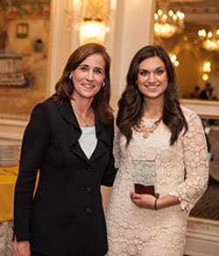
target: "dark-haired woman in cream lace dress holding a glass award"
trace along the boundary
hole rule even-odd
[[[208,183],[208,152],[200,118],[180,106],[164,48],[147,46],[133,57],[118,106],[107,255],[183,255],[187,216]],[[150,164],[141,175],[156,176],[159,199],[135,193],[134,163]]]

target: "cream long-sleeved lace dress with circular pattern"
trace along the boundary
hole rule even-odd
[[[186,107],[181,108],[188,130],[186,135],[180,134],[173,146],[169,145],[170,131],[163,122],[147,139],[134,131],[127,150],[124,135],[117,131],[115,157],[119,171],[106,216],[106,255],[183,255],[187,216],[208,183],[208,152],[200,118]],[[155,121],[144,120],[149,127]],[[159,196],[177,196],[180,204],[159,210],[138,208],[130,198],[133,159],[154,160]]]

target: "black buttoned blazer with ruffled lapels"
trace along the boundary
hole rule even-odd
[[[88,159],[69,99],[47,100],[32,111],[21,150],[15,189],[14,229],[18,241],[47,255],[100,256],[107,252],[100,185],[111,186],[113,124],[95,119],[97,145]],[[36,175],[39,186],[32,199]]]

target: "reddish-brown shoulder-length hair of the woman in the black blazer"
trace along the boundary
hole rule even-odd
[[[110,99],[110,77],[109,69],[111,58],[108,55],[106,48],[97,43],[84,44],[77,48],[72,55],[69,56],[65,69],[63,70],[60,80],[55,84],[55,93],[49,98],[54,101],[60,101],[72,98],[72,93],[74,91],[74,84],[69,75],[72,70],[77,69],[77,67],[83,62],[89,55],[100,54],[105,61],[105,86],[101,88],[100,91],[95,95],[92,102],[92,106],[95,108],[95,114],[103,122],[104,125],[109,126],[113,120],[112,108],[109,106]]]

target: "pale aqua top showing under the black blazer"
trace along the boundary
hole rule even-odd
[[[95,136],[95,126],[94,127],[81,127],[81,137],[78,142],[81,146],[81,149],[84,151],[85,155],[91,157],[92,153],[95,150],[97,139]]]

